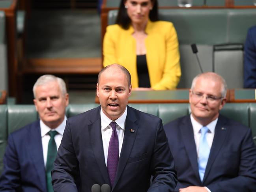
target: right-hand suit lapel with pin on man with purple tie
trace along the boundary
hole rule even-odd
[[[136,124],[137,118],[133,110],[127,106],[127,117],[125,121],[125,133],[123,138],[123,145],[120,153],[120,158],[118,161],[118,168],[116,171],[116,179],[114,182],[115,187],[116,183],[118,182],[125,165],[127,164],[127,160],[130,157],[131,150],[133,149],[133,143],[135,142],[136,134],[138,132],[138,125]],[[131,129],[134,129],[135,132],[131,133]]]

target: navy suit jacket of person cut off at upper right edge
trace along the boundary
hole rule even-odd
[[[248,30],[245,41],[244,88],[256,88],[256,26]]]

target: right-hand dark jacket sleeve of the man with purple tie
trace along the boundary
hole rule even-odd
[[[151,160],[151,175],[153,175],[153,179],[148,192],[174,191],[177,185],[174,159],[161,120],[157,125],[155,135],[155,147]]]

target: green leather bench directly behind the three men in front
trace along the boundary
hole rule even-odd
[[[70,104],[67,117],[97,107],[98,104]],[[129,104],[140,111],[153,114],[166,124],[178,117],[190,113],[189,104]],[[227,103],[221,114],[230,117],[252,128],[256,142],[256,103]],[[0,105],[0,173],[3,168],[3,156],[7,145],[8,134],[38,119],[34,105]]]

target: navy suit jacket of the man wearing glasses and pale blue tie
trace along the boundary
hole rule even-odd
[[[207,186],[211,192],[256,191],[256,147],[249,128],[219,116],[202,182],[190,116],[166,124],[164,130],[177,171],[176,190]]]

